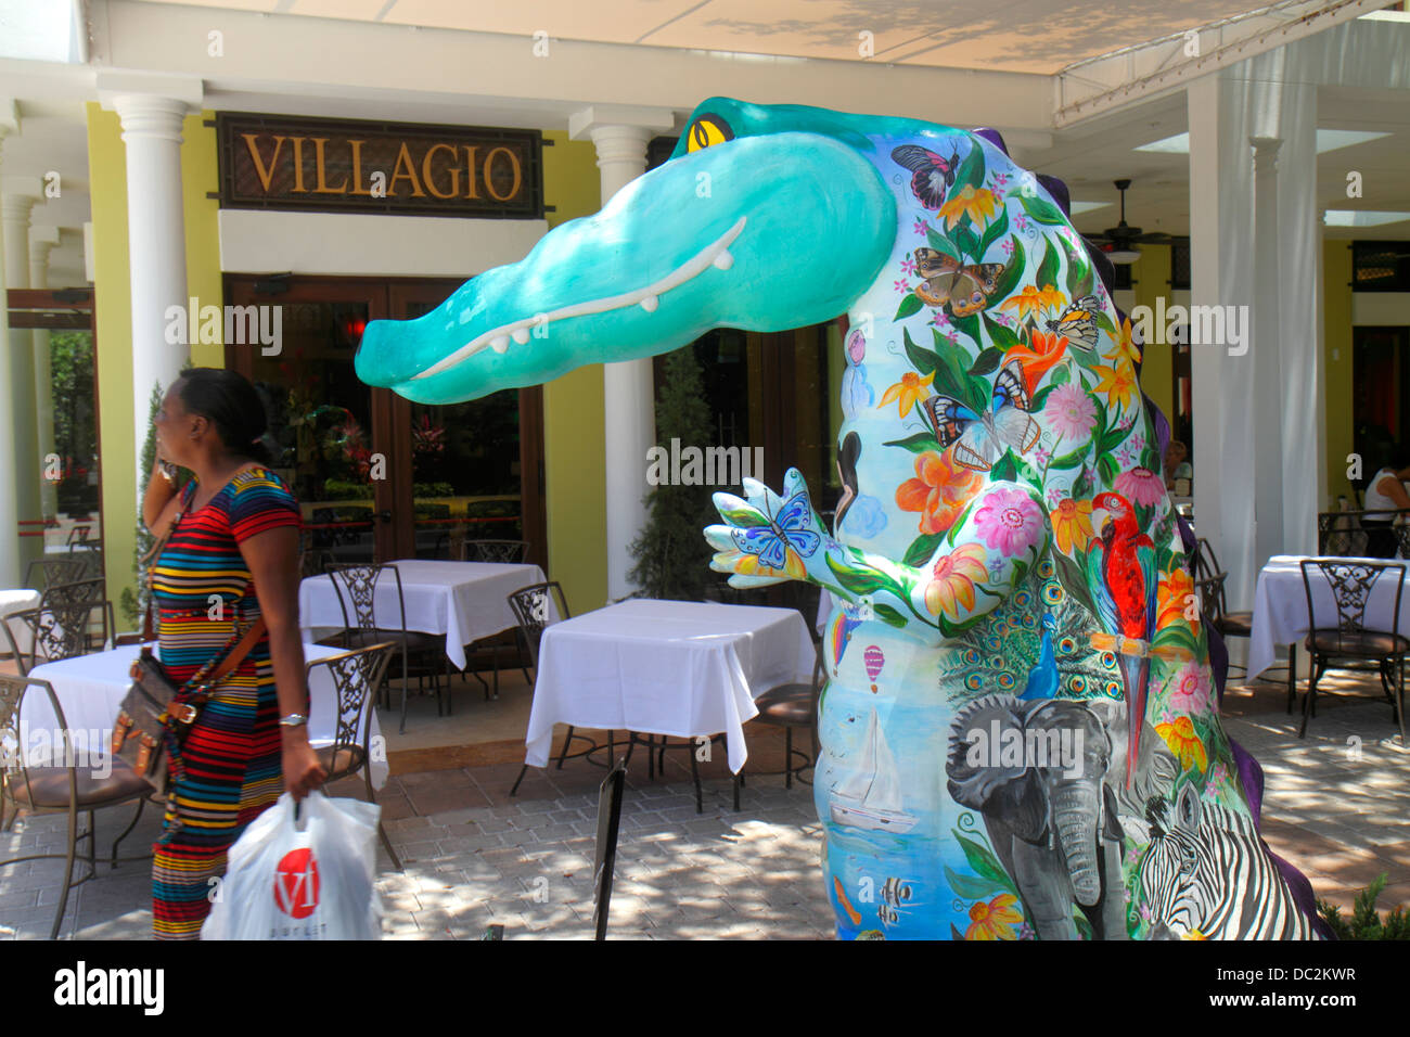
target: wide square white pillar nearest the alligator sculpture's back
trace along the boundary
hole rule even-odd
[[[1187,87],[1190,301],[1249,306],[1253,298],[1252,161],[1246,83],[1214,73]],[[1246,312],[1246,310],[1244,310]],[[1220,556],[1230,607],[1249,608],[1253,545],[1253,351],[1190,346],[1194,523]]]

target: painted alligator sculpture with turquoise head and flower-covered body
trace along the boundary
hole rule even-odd
[[[447,404],[846,313],[835,528],[791,470],[716,494],[706,530],[732,584],[833,600],[839,935],[1311,937],[1220,725],[1227,656],[1103,267],[997,134],[716,97],[596,216],[371,323],[357,372]]]

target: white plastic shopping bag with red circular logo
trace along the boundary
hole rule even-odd
[[[381,940],[376,823],[382,808],[285,793],[230,848],[202,940]]]

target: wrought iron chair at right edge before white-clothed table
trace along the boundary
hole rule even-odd
[[[1317,712],[1317,681],[1334,659],[1371,659],[1379,665],[1380,686],[1390,700],[1390,708],[1400,728],[1400,745],[1406,744],[1404,722],[1404,659],[1410,653],[1410,639],[1400,631],[1400,598],[1404,591],[1406,567],[1394,563],[1338,562],[1306,559],[1301,563],[1303,590],[1307,593],[1308,633],[1306,646],[1311,653],[1311,677],[1303,698],[1303,722],[1299,738],[1307,736],[1307,721]],[[1313,574],[1331,591],[1337,608],[1335,625],[1325,605],[1318,610],[1313,595]],[[1394,580],[1394,607],[1389,631],[1366,626],[1366,605],[1371,593],[1382,578]],[[1332,693],[1323,693],[1332,694]]]

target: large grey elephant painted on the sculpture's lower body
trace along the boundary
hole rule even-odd
[[[990,841],[1042,940],[1076,940],[1073,904],[1097,938],[1127,938],[1118,794],[1169,790],[1176,768],[1155,738],[1141,787],[1127,790],[1122,704],[990,696],[950,728],[949,792],[984,815]],[[1165,789],[1159,789],[1159,784]],[[1108,878],[1110,876],[1110,878]]]

